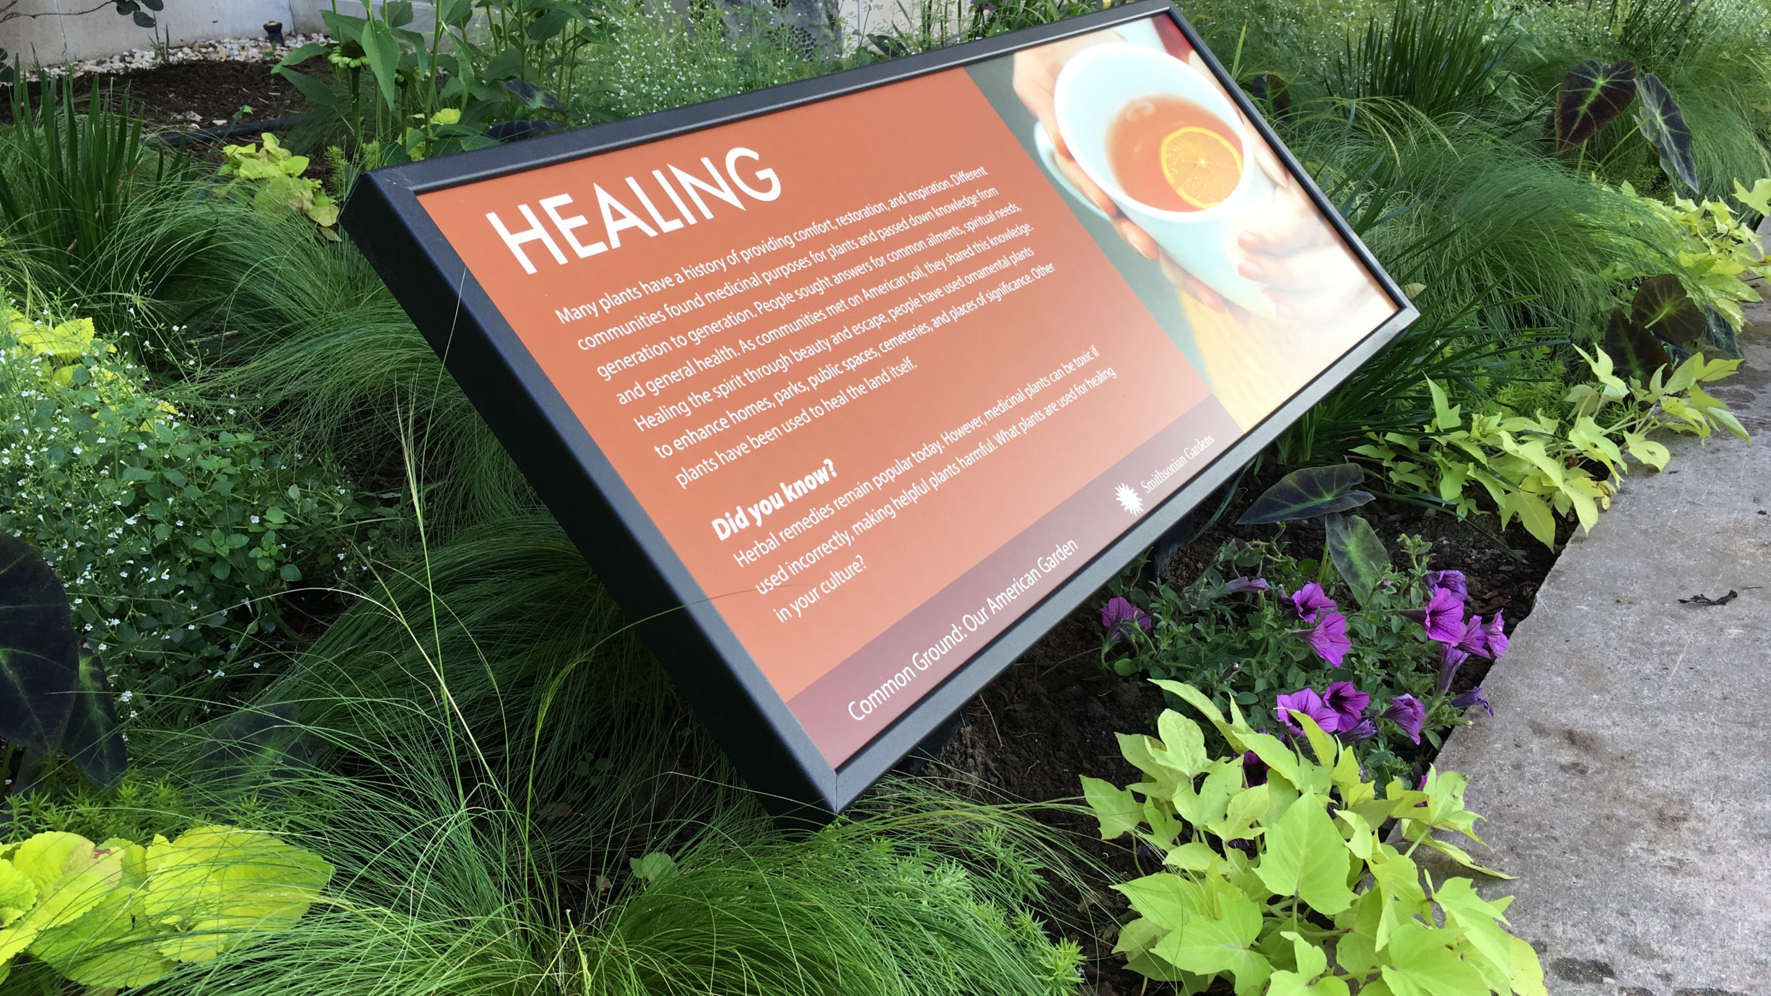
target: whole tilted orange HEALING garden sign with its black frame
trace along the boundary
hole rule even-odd
[[[845,806],[1415,312],[1165,2],[370,174],[719,735]]]

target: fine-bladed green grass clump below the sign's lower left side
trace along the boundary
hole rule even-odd
[[[1015,806],[887,785],[777,831],[549,517],[388,569],[255,700],[324,744],[253,739],[260,819],[336,867],[333,902],[159,992],[280,996],[1063,996],[1038,914],[1059,836]],[[142,778],[214,806],[205,735],[140,728]],[[310,753],[310,757],[313,757]],[[280,773],[276,773],[276,771]],[[273,794],[275,792],[275,794]],[[326,805],[303,799],[319,799]],[[143,808],[156,805],[142,799]]]

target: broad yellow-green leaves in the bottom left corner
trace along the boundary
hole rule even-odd
[[[145,985],[287,929],[331,874],[301,847],[228,826],[145,847],[39,833],[0,847],[0,980],[28,955],[81,985]]]

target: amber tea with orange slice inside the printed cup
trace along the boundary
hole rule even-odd
[[[1128,103],[1107,126],[1107,161],[1133,200],[1160,211],[1222,204],[1241,181],[1241,144],[1222,119],[1172,94]]]

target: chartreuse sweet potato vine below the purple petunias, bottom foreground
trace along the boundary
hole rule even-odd
[[[1130,833],[1164,858],[1165,870],[1114,886],[1135,914],[1114,948],[1128,968],[1187,992],[1222,980],[1240,996],[1544,992],[1535,952],[1505,930],[1511,900],[1482,899],[1465,877],[1435,888],[1411,858],[1431,847],[1479,868],[1442,838],[1475,840],[1463,776],[1429,771],[1420,789],[1396,780],[1380,796],[1307,716],[1305,748],[1254,730],[1234,702],[1226,716],[1192,686],[1156,684],[1233,753],[1208,757],[1199,725],[1169,711],[1162,737],[1119,737],[1142,782],[1084,778],[1102,838]],[[1268,764],[1264,783],[1249,783],[1243,751]],[[1406,849],[1376,833],[1390,821]]]

